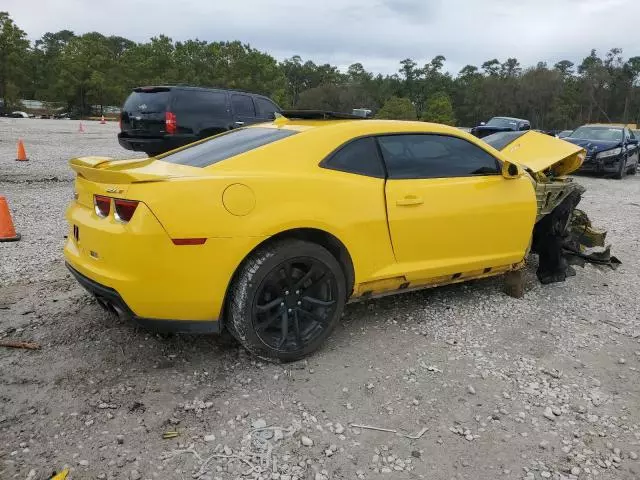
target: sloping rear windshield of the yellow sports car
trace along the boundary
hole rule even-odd
[[[192,167],[208,167],[227,158],[290,137],[298,132],[279,128],[253,127],[232,130],[210,140],[160,156],[164,162]]]

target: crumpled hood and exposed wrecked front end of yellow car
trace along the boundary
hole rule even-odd
[[[520,163],[534,184],[538,215],[531,251],[539,256],[536,274],[541,283],[575,275],[572,265],[620,265],[605,243],[607,232],[593,227],[576,208],[585,188],[566,176],[580,168],[584,149],[531,131],[500,132],[483,140]]]

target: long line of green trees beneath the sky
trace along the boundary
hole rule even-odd
[[[87,114],[91,105],[121,105],[133,87],[189,84],[247,90],[286,108],[351,111],[381,118],[422,119],[472,126],[494,115],[531,120],[536,128],[588,122],[640,123],[640,56],[596,50],[579,64],[562,60],[524,67],[516,58],[444,71],[435,56],[425,65],[407,58],[393,75],[360,63],[346,72],[300,56],[278,61],[240,41],[173,41],[159,35],[137,43],[97,32],[46,33],[35,42],[0,12],[0,98],[62,102]]]

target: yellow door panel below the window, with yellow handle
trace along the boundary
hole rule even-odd
[[[411,282],[521,261],[536,216],[525,177],[388,180],[386,198],[396,273]]]

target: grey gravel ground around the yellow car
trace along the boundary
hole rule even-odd
[[[273,365],[139,330],[69,277],[66,161],[128,154],[116,125],[77,123],[0,120],[23,235],[0,243],[0,339],[42,345],[0,348],[0,478],[640,478],[640,176],[577,177],[617,271],[542,286],[532,258],[523,299],[489,279],[350,305],[321,351]]]

